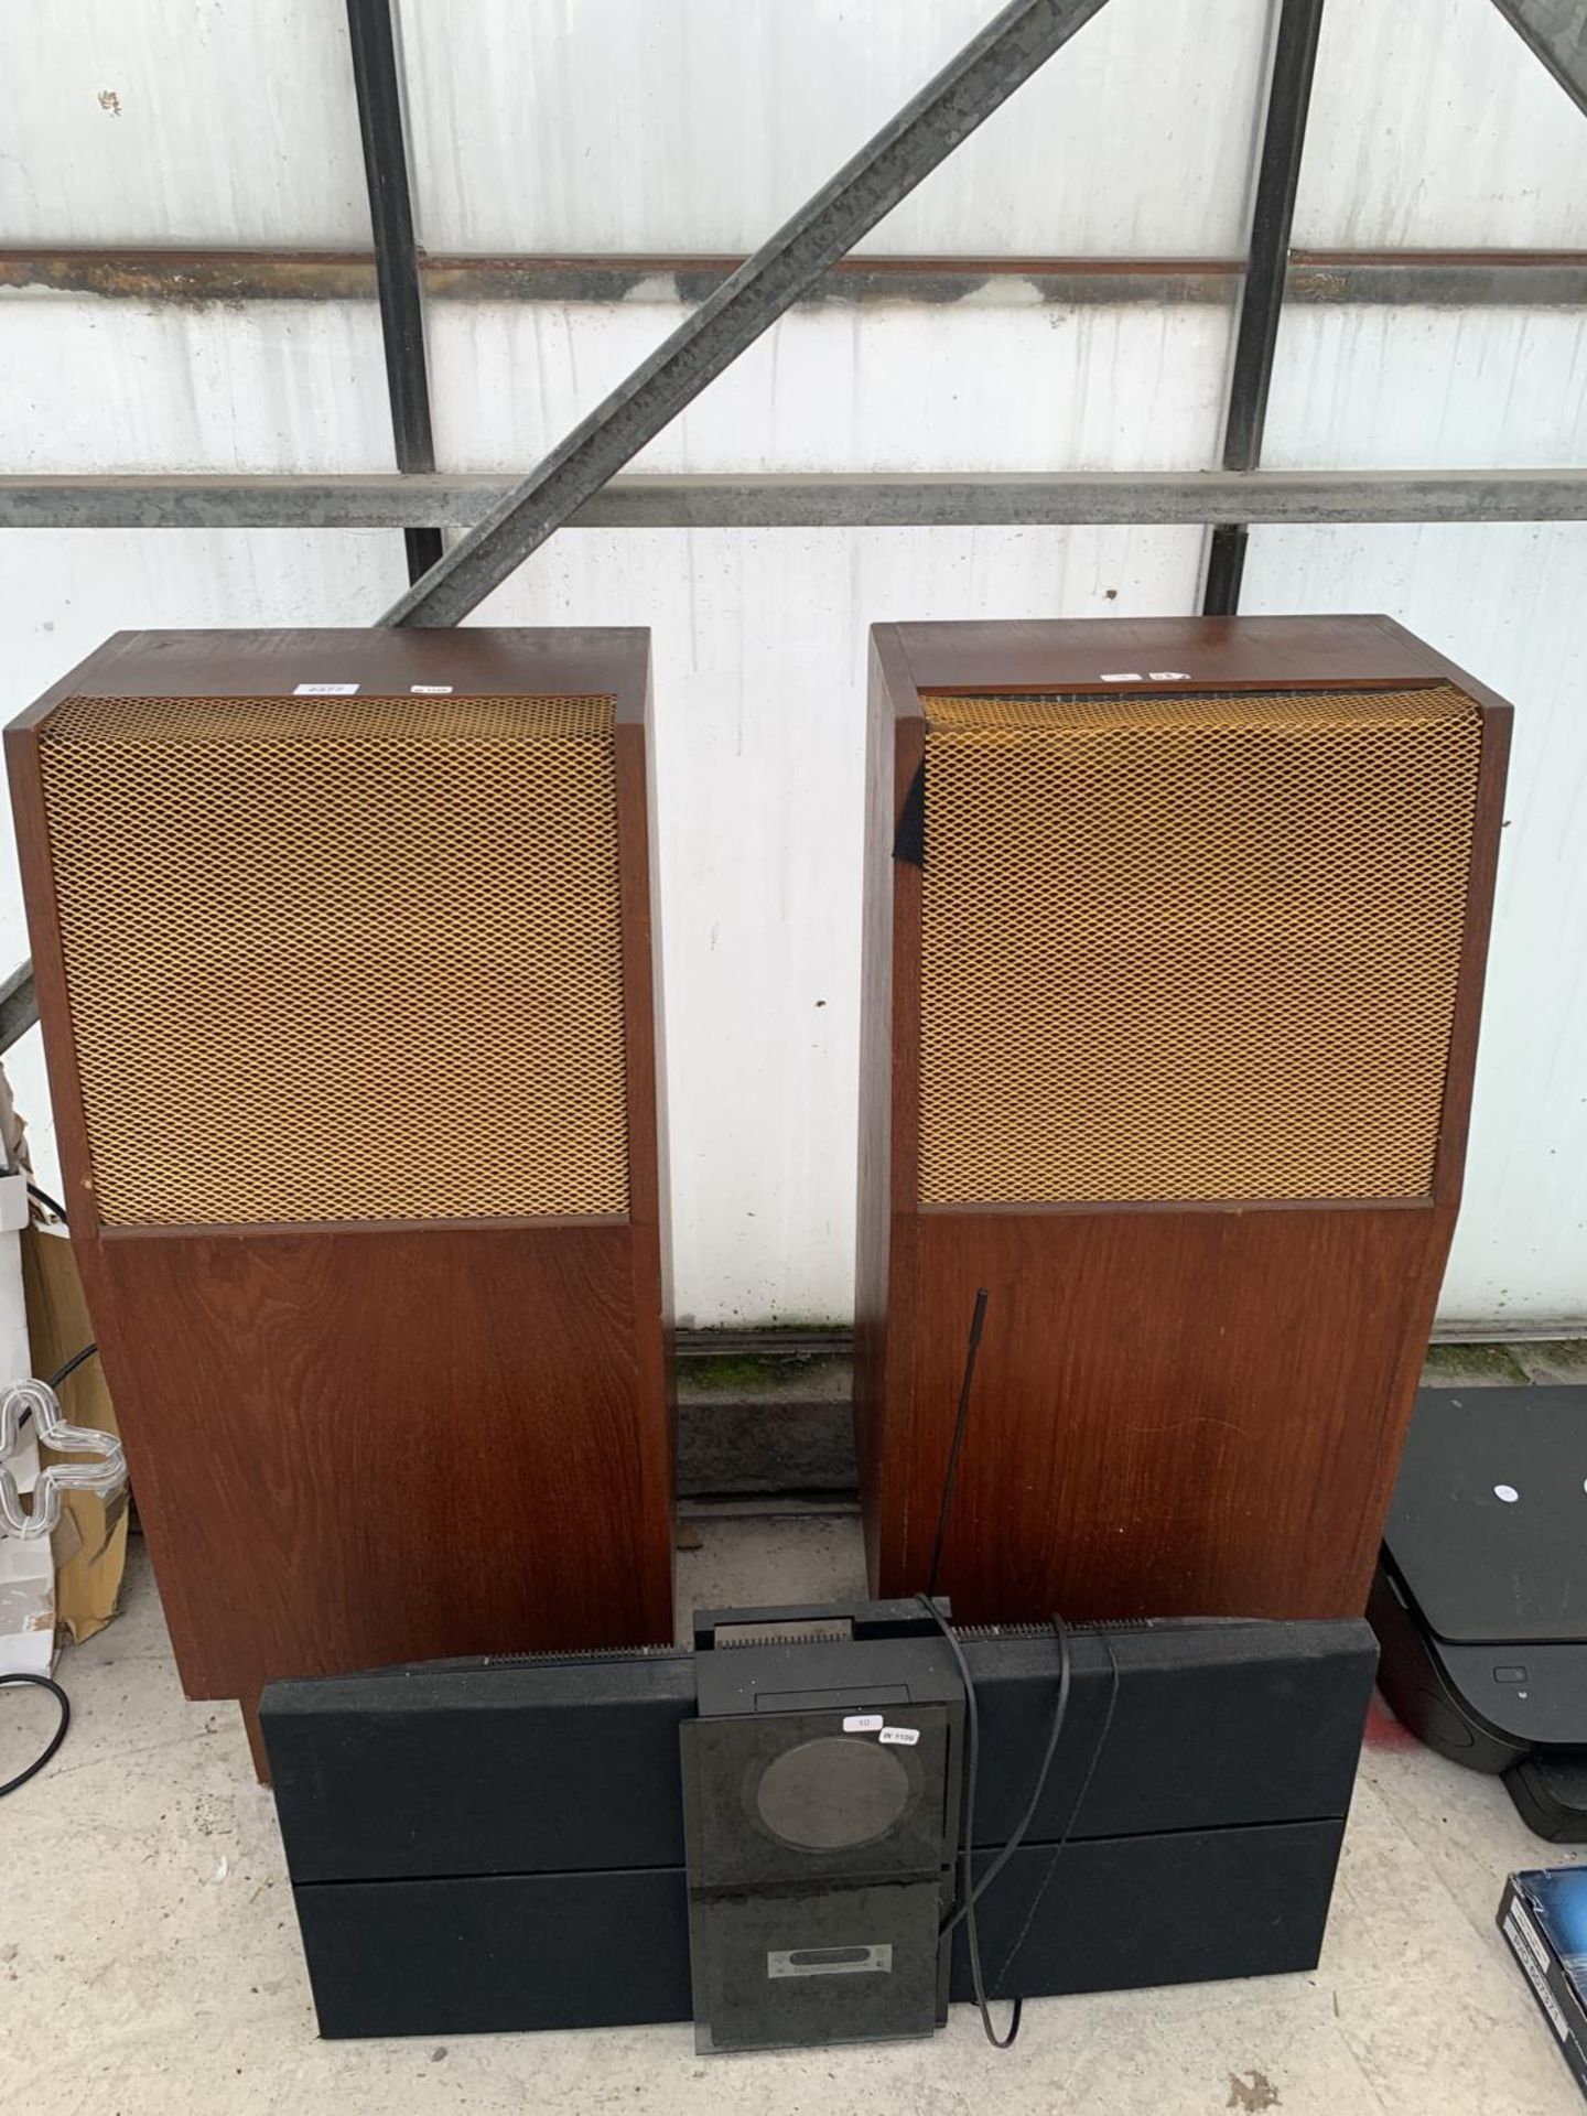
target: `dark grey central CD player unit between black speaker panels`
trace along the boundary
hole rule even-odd
[[[882,1636],[849,1619],[794,1638],[707,1619],[679,1725],[703,2050],[948,2019],[965,1691],[923,1617],[904,1604]]]

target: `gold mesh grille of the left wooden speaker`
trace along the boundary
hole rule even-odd
[[[624,1212],[612,698],[70,698],[106,1223]]]

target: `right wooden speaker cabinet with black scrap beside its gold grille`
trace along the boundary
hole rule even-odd
[[[1509,707],[1386,618],[872,635],[857,1439],[961,1619],[1346,1617],[1460,1198]]]

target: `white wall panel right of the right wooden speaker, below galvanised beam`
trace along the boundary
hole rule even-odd
[[[1585,580],[1583,523],[1251,533],[1244,609],[1384,609],[1515,703],[1445,1322],[1587,1327]]]

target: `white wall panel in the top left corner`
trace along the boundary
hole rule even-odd
[[[0,241],[366,250],[343,0],[13,0]]]

